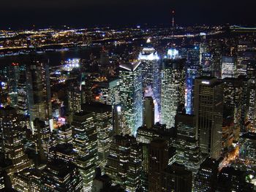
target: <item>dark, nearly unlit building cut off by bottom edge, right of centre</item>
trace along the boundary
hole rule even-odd
[[[192,191],[192,172],[179,164],[172,164],[162,172],[162,191]]]

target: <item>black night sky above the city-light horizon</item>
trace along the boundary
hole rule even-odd
[[[170,23],[255,24],[256,0],[0,0],[0,28]]]

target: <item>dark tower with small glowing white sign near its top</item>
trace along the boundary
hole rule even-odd
[[[203,153],[219,158],[223,123],[223,85],[215,77],[195,79],[197,137]]]

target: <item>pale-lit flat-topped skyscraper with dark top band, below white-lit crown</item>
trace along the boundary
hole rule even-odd
[[[185,60],[165,59],[162,69],[161,123],[167,128],[175,125],[180,104],[185,103]]]

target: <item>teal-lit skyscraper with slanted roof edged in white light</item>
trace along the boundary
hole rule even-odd
[[[127,125],[136,135],[143,124],[143,82],[140,62],[121,64],[119,70],[121,106]]]

